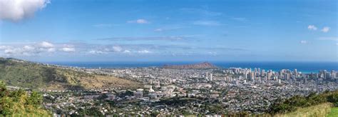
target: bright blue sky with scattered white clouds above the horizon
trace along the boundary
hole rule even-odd
[[[337,61],[337,6],[335,0],[5,0],[0,2],[0,56],[30,61]]]

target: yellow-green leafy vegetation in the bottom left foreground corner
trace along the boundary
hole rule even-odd
[[[9,91],[0,81],[0,116],[50,116],[51,113],[41,108],[42,96],[24,90]]]

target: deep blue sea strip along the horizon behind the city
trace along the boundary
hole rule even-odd
[[[150,67],[150,66],[163,66],[165,64],[169,65],[183,65],[190,63],[200,63],[200,62],[191,62],[191,61],[175,61],[175,62],[47,62],[61,66],[74,66],[81,68],[133,68],[133,67]],[[225,61],[211,61],[210,63],[221,68],[261,68],[272,71],[280,71],[282,69],[290,69],[301,71],[303,73],[317,73],[319,70],[327,71],[338,71],[338,62],[249,62],[249,61],[236,61],[236,62],[225,62]]]

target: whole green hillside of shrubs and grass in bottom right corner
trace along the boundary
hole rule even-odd
[[[276,101],[270,107],[274,116],[338,116],[338,90],[310,93],[308,96],[293,96]]]

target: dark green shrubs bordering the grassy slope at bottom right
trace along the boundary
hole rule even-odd
[[[310,93],[309,96],[293,96],[285,101],[278,100],[272,104],[269,113],[287,113],[296,111],[297,108],[315,106],[321,103],[333,103],[334,106],[338,106],[338,90],[325,91],[320,94]]]

